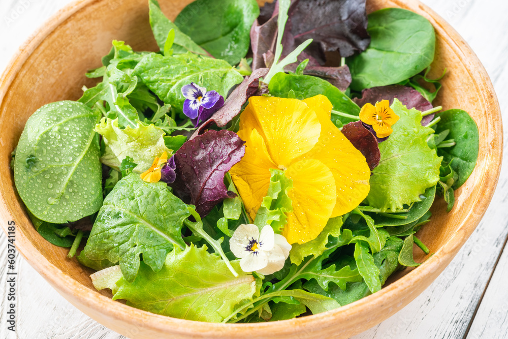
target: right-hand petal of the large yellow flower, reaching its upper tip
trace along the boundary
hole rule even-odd
[[[326,97],[304,100],[309,106],[331,111]],[[318,109],[319,108],[319,109]],[[321,123],[319,142],[300,159],[316,159],[332,172],[337,190],[332,218],[352,211],[369,194],[370,169],[362,153],[330,121],[330,115],[318,114]]]

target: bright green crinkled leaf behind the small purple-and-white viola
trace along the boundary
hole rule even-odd
[[[226,98],[231,87],[243,80],[226,61],[190,53],[174,56],[152,53],[140,61],[134,73],[153,93],[180,113],[185,101],[181,91],[184,85],[195,82]]]

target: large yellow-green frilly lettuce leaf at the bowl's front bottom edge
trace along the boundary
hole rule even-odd
[[[164,265],[154,272],[141,263],[136,279],[121,278],[113,299],[125,299],[137,309],[187,320],[220,322],[235,305],[252,300],[256,279],[242,272],[238,261],[232,265],[241,272],[231,274],[220,257],[194,245],[168,254]]]

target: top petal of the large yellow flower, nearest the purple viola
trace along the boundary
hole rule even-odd
[[[255,128],[266,142],[277,167],[285,169],[319,139],[316,113],[296,99],[251,97],[240,117],[240,129]]]

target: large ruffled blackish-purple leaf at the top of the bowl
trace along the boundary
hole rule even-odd
[[[288,54],[307,39],[319,48],[306,50],[320,60],[324,52],[339,51],[342,57],[364,51],[370,44],[365,0],[296,0],[289,10],[286,30],[294,47],[284,44]]]

